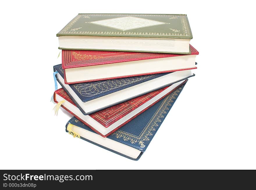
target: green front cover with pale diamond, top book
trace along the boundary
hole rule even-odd
[[[192,39],[186,14],[78,14],[56,36]]]

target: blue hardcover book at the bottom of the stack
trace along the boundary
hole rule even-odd
[[[185,84],[183,83],[173,93],[106,138],[95,133],[75,117],[67,122],[66,131],[74,137],[91,142],[116,154],[138,160],[147,149]]]

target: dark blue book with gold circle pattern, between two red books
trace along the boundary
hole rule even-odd
[[[191,70],[117,78],[78,84],[65,84],[62,65],[55,65],[56,79],[84,115],[153,92],[194,74]]]

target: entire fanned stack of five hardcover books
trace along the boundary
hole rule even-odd
[[[66,131],[132,160],[147,149],[195,76],[198,51],[185,14],[78,14],[57,34]],[[57,83],[56,83],[57,88]]]

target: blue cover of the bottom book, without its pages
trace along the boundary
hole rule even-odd
[[[171,107],[173,106],[174,102],[176,101],[177,97],[179,96],[180,92],[184,88],[184,85],[181,85],[178,89],[173,91],[171,94],[160,100],[158,103],[147,109],[145,112],[138,115],[136,118],[131,120],[129,123],[125,124],[123,127],[112,133],[106,138],[114,140],[116,142],[128,145],[135,149],[141,151],[141,154],[138,158],[131,158],[127,157],[126,155],[120,154],[116,151],[113,151],[109,148],[106,148],[102,145],[99,145],[95,142],[92,142],[86,138],[80,137],[83,140],[91,142],[99,147],[108,149],[112,152],[120,154],[121,156],[125,156],[132,160],[138,160],[143,152],[147,149],[148,145],[150,144],[152,138],[156,134],[157,130],[159,129],[160,125],[163,123],[163,120],[167,116],[168,112],[170,111]],[[87,131],[95,133],[90,127],[84,125],[80,122],[77,118],[71,118],[66,125],[66,131],[69,124],[78,126],[83,128]]]

